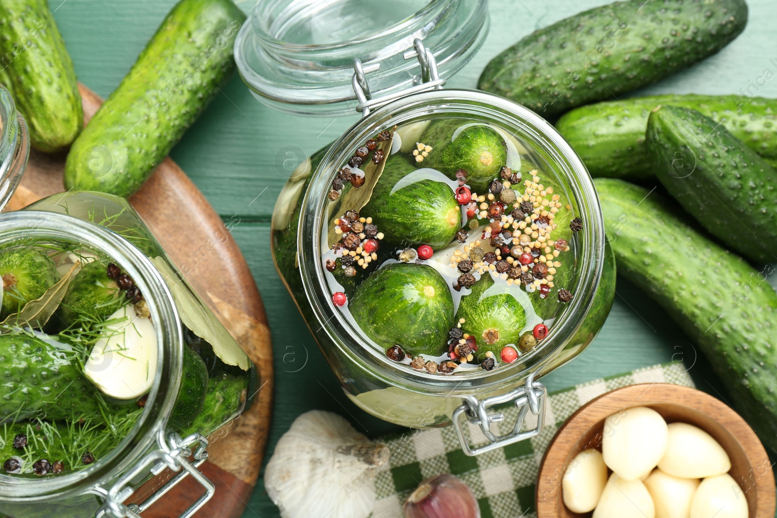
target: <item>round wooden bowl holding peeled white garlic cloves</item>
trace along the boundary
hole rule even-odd
[[[761,441],[728,405],[695,388],[673,384],[638,384],[594,398],[575,412],[553,437],[542,458],[537,480],[538,518],[583,518],[566,509],[561,495],[564,470],[580,451],[601,450],[605,419],[625,408],[646,406],[667,422],[688,422],[709,433],[731,459],[730,475],[739,482],[750,518],[775,516],[775,478]]]

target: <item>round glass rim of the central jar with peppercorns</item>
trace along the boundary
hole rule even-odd
[[[430,113],[430,106],[438,109]],[[454,110],[498,116],[507,121],[507,127],[521,127],[531,137],[545,145],[570,180],[575,202],[585,216],[586,224],[577,232],[580,238],[580,256],[577,264],[581,267],[577,273],[577,293],[572,301],[566,303],[556,316],[549,335],[542,340],[542,346],[530,353],[524,353],[518,361],[490,371],[472,370],[472,372],[441,376],[421,370],[400,369],[374,346],[364,345],[357,337],[361,330],[354,329],[350,322],[336,309],[329,294],[324,275],[324,266],[320,260],[322,247],[320,229],[326,220],[326,203],[329,202],[329,183],[339,169],[338,164],[347,161],[353,154],[354,144],[364,141],[374,134],[375,128],[391,127],[402,120],[412,120],[421,116],[434,116],[452,113]],[[329,172],[329,174],[326,174]],[[588,175],[583,162],[564,138],[536,113],[509,99],[486,92],[473,90],[444,89],[424,92],[399,99],[382,106],[375,112],[358,121],[333,143],[313,172],[313,179],[301,202],[300,231],[298,233],[298,254],[300,273],[305,294],[308,297],[315,317],[322,331],[332,342],[340,347],[354,361],[369,363],[375,367],[374,374],[385,377],[389,383],[401,380],[404,386],[413,385],[419,390],[438,388],[440,391],[471,391],[473,387],[497,384],[505,379],[523,379],[533,372],[542,370],[573,338],[577,329],[591,309],[601,278],[605,257],[605,228],[598,197],[593,180]],[[531,363],[531,362],[534,363]],[[451,388],[455,385],[455,388]]]

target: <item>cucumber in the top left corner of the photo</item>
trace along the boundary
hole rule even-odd
[[[30,129],[30,144],[58,151],[75,140],[84,112],[73,62],[46,0],[0,0],[0,79]]]

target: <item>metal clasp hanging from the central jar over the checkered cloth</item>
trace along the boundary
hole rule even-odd
[[[545,424],[545,399],[547,395],[548,389],[545,388],[545,385],[539,381],[534,381],[534,374],[531,374],[526,378],[526,383],[523,386],[516,388],[514,391],[507,392],[507,394],[486,398],[483,401],[479,401],[475,396],[465,396],[462,398],[462,405],[459,405],[453,411],[453,427],[456,430],[459,442],[462,443],[464,454],[474,457],[475,455],[484,454],[486,451],[497,450],[497,448],[505,447],[508,444],[517,443],[539,435],[542,432],[542,426]],[[487,409],[510,401],[514,401],[515,406],[518,408],[518,418],[515,420],[515,425],[510,430],[510,433],[497,436],[491,429],[491,423],[504,421],[504,414],[502,412],[490,414],[487,412]],[[537,416],[537,426],[534,429],[521,432],[521,426],[523,426],[524,419],[526,419],[529,410]],[[488,443],[477,448],[469,446],[462,427],[462,415],[473,425],[480,426],[483,435],[489,440]]]

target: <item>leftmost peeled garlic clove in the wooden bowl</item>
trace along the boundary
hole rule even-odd
[[[607,484],[605,459],[597,450],[584,450],[570,462],[561,481],[564,505],[573,513],[594,510]]]

